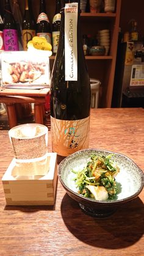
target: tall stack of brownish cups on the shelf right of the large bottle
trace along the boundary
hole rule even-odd
[[[103,45],[106,49],[105,55],[109,54],[109,48],[110,48],[110,32],[109,29],[103,29],[98,31],[98,40],[99,45]]]

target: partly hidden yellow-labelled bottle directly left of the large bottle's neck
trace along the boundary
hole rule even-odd
[[[53,46],[53,53],[57,53],[57,47],[59,44],[59,35],[60,35],[60,9],[61,9],[61,3],[60,0],[56,0],[56,11],[54,18],[52,20],[52,46]]]

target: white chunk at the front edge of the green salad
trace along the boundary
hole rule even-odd
[[[86,188],[88,188],[90,190],[90,192],[93,194],[95,199],[98,201],[107,200],[109,197],[109,195],[106,191],[106,188],[104,188],[104,186],[87,185]]]

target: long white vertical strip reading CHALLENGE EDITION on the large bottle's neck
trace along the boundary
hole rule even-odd
[[[65,4],[65,81],[77,81],[78,3]]]

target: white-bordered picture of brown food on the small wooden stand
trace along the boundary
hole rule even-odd
[[[1,86],[17,89],[49,87],[47,51],[5,51],[1,53]]]

